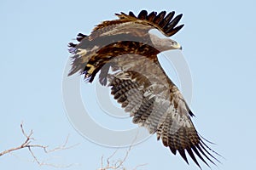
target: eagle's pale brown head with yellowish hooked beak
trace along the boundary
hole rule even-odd
[[[170,49],[182,49],[182,46],[176,41],[170,38],[160,38],[154,34],[149,33],[151,42],[154,48],[158,49],[160,52],[170,50]]]

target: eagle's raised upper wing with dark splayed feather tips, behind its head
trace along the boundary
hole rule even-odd
[[[183,27],[183,25],[177,26],[183,14],[178,14],[173,18],[174,14],[174,11],[167,15],[166,11],[162,11],[160,14],[153,11],[148,14],[146,10],[142,10],[137,16],[132,12],[116,14],[119,20],[103,21],[91,32],[90,39],[121,33],[131,33],[139,36],[154,28],[161,31],[166,37],[171,37]]]

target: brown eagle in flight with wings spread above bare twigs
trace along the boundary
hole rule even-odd
[[[198,158],[208,167],[209,162],[216,165],[218,159],[212,153],[218,153],[195,129],[193,112],[157,58],[163,51],[182,49],[169,37],[183,28],[177,26],[183,14],[142,10],[137,16],[132,12],[116,16],[117,20],[103,21],[88,36],[79,33],[78,43],[68,44],[72,54],[68,76],[79,72],[86,82],[93,82],[99,73],[99,82],[111,88],[113,99],[130,113],[133,123],[156,133],[158,140],[188,164],[187,155],[200,168]],[[165,38],[154,35],[153,29]]]

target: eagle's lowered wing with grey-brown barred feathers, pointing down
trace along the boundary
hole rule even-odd
[[[178,151],[188,162],[186,152],[200,167],[195,155],[208,165],[211,150],[200,138],[189,116],[193,116],[182,94],[158,62],[142,56],[125,54],[113,59],[113,67],[119,70],[108,75],[111,94],[125,111],[130,112],[132,122],[156,133],[173,154]]]

